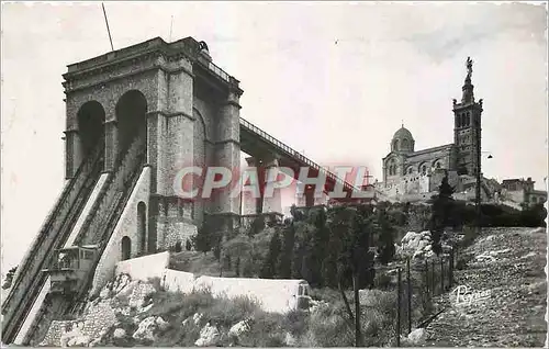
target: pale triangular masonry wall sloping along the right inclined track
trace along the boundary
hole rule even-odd
[[[137,252],[141,251],[141,236],[137,232],[137,204],[142,201],[148,204],[149,191],[150,167],[144,167],[134,191],[132,192],[122,216],[114,228],[111,239],[109,240],[98,263],[96,274],[93,275],[91,294],[99,292],[99,290],[101,290],[101,288],[112,279],[114,267],[116,262],[122,259],[121,240],[124,236],[130,237],[132,241],[132,257],[136,256]],[[145,226],[148,225],[146,224]]]

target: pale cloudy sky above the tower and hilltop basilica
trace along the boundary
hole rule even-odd
[[[214,63],[240,80],[240,116],[317,164],[367,166],[380,180],[402,123],[416,150],[453,142],[452,99],[461,98],[470,56],[475,98],[484,100],[483,156],[493,157],[483,159],[484,176],[531,177],[546,188],[545,5],[186,1],[105,9],[115,49],[156,36],[205,41]],[[4,272],[63,190],[61,75],[110,43],[99,2],[2,3],[1,25]]]

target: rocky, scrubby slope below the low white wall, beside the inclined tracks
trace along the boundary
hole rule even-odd
[[[321,318],[333,333],[352,338],[337,328],[346,324],[326,302],[313,300],[307,311],[281,315],[261,311],[247,297],[167,292],[159,284],[156,279],[142,282],[119,275],[88,303],[81,316],[53,322],[40,346],[283,347],[298,341],[318,346],[324,339],[317,334],[326,329],[315,327],[326,325]]]

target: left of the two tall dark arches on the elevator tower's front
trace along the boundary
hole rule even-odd
[[[86,102],[78,110],[78,135],[83,157],[98,145],[104,145],[104,109],[97,101]]]

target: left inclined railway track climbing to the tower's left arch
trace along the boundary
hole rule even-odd
[[[24,322],[46,280],[42,269],[49,266],[55,249],[61,247],[70,235],[102,170],[103,150],[103,145],[98,146],[78,168],[75,177],[67,183],[54,210],[46,218],[21,268],[18,268],[21,270],[19,277],[15,278],[13,288],[2,304],[2,313],[5,313],[5,325],[2,330],[4,341],[11,341],[16,334],[13,329],[19,330]],[[32,259],[30,258],[31,254]],[[31,305],[29,306],[30,301]],[[15,306],[12,306],[13,302],[16,302]],[[11,313],[11,309],[15,313]]]

